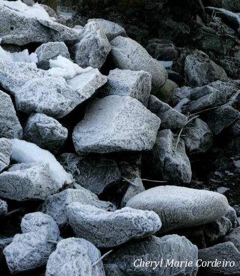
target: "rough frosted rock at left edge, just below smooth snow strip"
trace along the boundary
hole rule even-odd
[[[48,163],[12,165],[0,174],[0,197],[16,200],[45,200],[58,187],[49,171]]]

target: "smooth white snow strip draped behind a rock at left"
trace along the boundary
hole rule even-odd
[[[33,143],[19,139],[10,140],[13,145],[11,158],[18,163],[48,163],[49,171],[59,188],[65,183],[72,182],[72,176],[68,174],[57,159],[49,151],[39,148]]]

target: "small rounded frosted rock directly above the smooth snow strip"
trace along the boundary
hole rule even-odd
[[[25,121],[23,139],[42,149],[55,151],[68,137],[68,129],[45,114],[32,113]]]

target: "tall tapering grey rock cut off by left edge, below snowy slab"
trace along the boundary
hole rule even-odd
[[[16,115],[12,100],[0,90],[0,137],[21,139],[22,136],[23,129]]]

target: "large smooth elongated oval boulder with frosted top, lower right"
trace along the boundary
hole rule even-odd
[[[148,189],[130,199],[127,206],[157,213],[162,221],[161,233],[216,221],[229,208],[221,194],[179,186]]]

